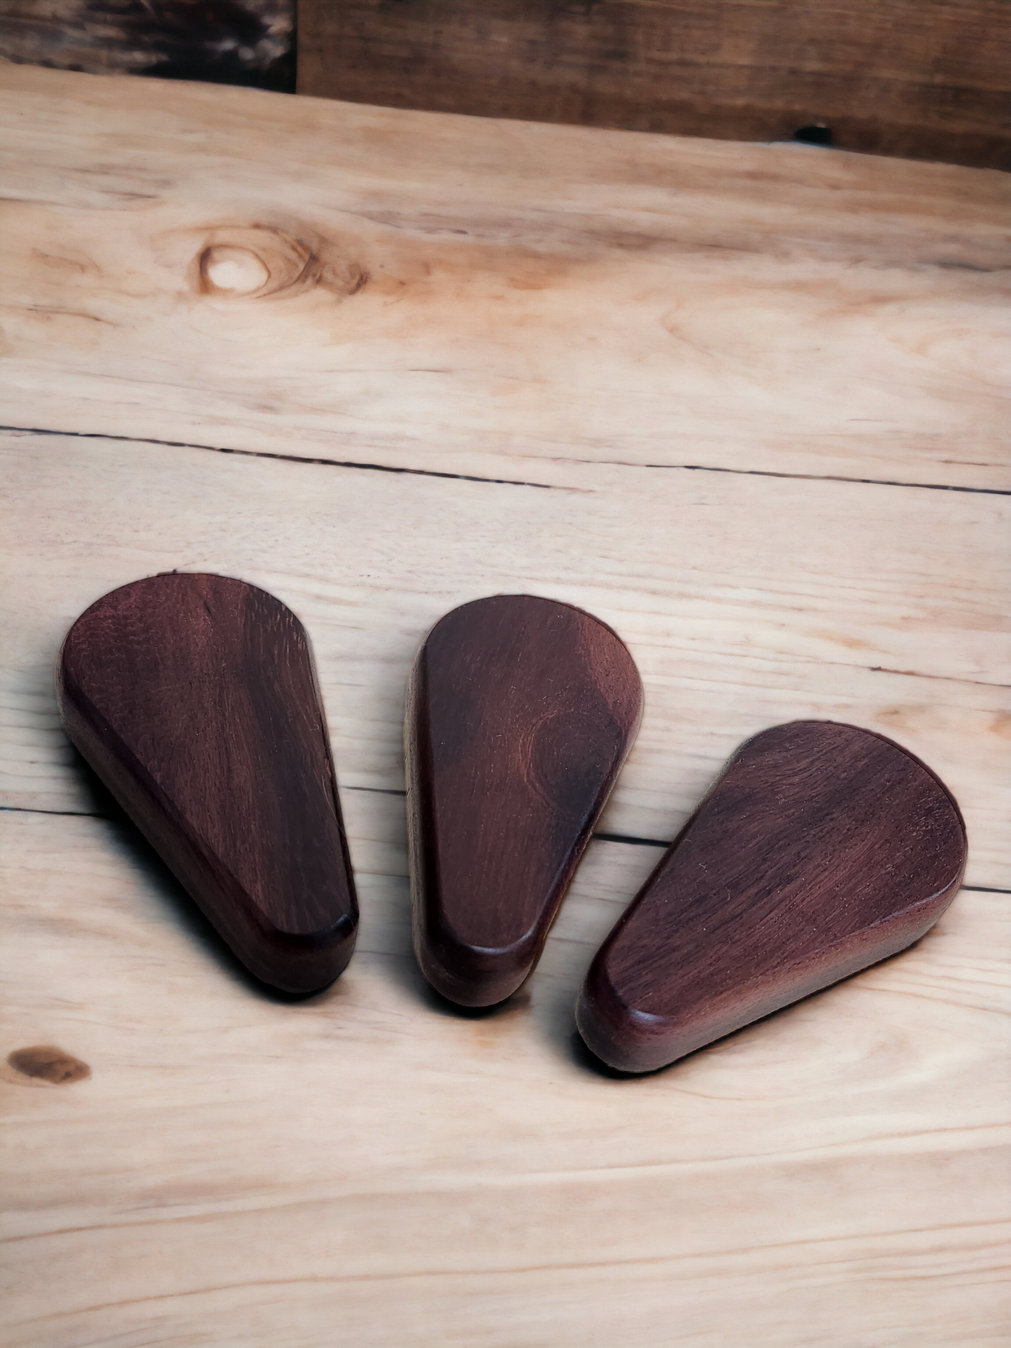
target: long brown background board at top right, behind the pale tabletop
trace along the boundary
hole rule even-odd
[[[299,0],[298,92],[1011,167],[1007,0]]]

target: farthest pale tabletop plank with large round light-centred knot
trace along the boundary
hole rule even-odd
[[[0,82],[9,425],[537,481],[1011,487],[1007,175]]]

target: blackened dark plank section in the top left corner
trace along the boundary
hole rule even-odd
[[[295,0],[0,0],[0,59],[295,90]]]

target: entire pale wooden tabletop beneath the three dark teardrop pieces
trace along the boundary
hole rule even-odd
[[[0,1080],[0,1341],[1007,1344],[1007,181],[3,82],[1,1055],[92,1076]],[[315,646],[363,923],[307,1004],[237,972],[59,731],[69,623],[173,566],[267,586]],[[740,739],[829,716],[941,772],[968,888],[913,950],[616,1080],[572,1006],[659,852],[597,840],[524,991],[435,1006],[406,673],[445,609],[520,589],[642,669],[603,833],[670,838]]]

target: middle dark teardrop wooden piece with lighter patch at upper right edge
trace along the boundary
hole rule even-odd
[[[414,948],[461,1006],[532,969],[642,717],[621,640],[555,600],[497,594],[429,632],[407,694]]]

